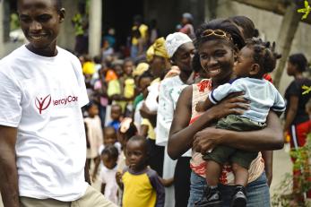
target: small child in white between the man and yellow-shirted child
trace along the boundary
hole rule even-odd
[[[101,152],[100,159],[103,163],[103,168],[100,171],[101,193],[104,194],[109,201],[117,204],[117,148],[108,144]]]

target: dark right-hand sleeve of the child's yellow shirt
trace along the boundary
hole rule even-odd
[[[157,173],[151,168],[148,169],[147,175],[149,177],[152,187],[155,189],[157,193],[157,202],[156,202],[155,207],[163,207],[164,201],[165,201],[164,186],[160,183],[160,179]]]

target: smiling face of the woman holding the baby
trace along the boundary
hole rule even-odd
[[[198,48],[200,62],[215,83],[228,82],[234,65],[235,52],[225,40],[213,39]]]

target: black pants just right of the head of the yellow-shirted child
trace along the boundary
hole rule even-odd
[[[160,177],[163,176],[164,147],[155,144],[155,140],[147,139],[149,160],[151,169],[155,170]]]

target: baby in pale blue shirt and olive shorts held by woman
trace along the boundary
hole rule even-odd
[[[280,57],[273,52],[274,47],[274,44],[270,47],[269,42],[264,43],[261,39],[251,39],[246,42],[246,47],[243,47],[238,54],[238,63],[234,68],[237,79],[220,85],[209,94],[208,99],[199,102],[195,109],[197,111],[207,110],[230,93],[244,91],[245,99],[250,100],[250,108],[241,116],[229,115],[220,119],[216,128],[235,131],[262,129],[270,109],[279,113],[285,110],[285,102],[281,94],[272,83],[263,80],[263,74],[272,72],[276,59]],[[217,70],[215,68],[213,72],[217,73]],[[256,151],[240,151],[223,145],[217,146],[212,152],[207,152],[203,159],[207,162],[206,181],[210,188],[202,201],[196,203],[195,206],[210,206],[209,204],[218,206],[221,203],[218,183],[222,165],[227,161],[232,164],[236,185],[231,205],[246,206],[245,187],[248,180],[248,168],[257,155]]]

